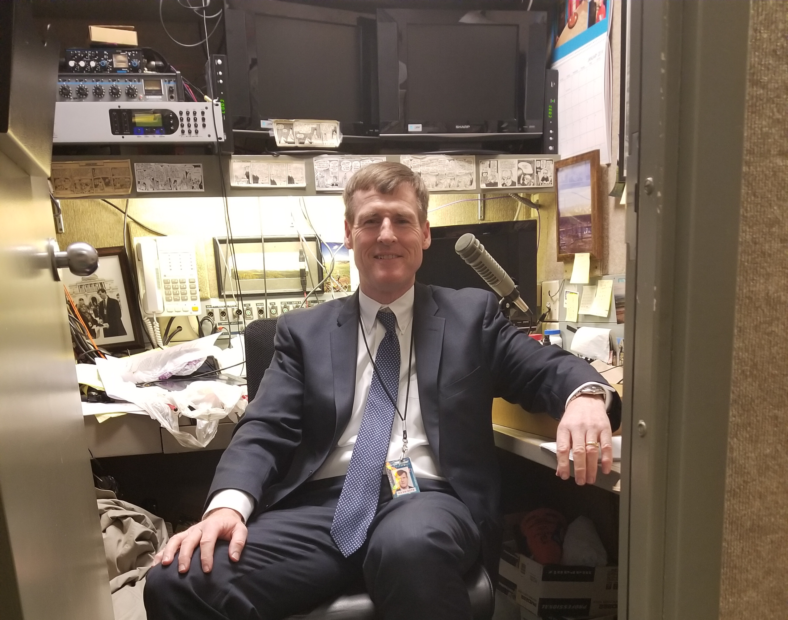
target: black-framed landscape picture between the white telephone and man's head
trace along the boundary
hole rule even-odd
[[[214,237],[219,295],[323,292],[321,244],[314,236]]]

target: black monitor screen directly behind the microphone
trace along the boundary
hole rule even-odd
[[[485,280],[455,252],[457,239],[473,233],[504,268],[530,308],[537,307],[537,225],[533,220],[434,226],[432,243],[424,251],[416,280],[448,288],[483,288]]]

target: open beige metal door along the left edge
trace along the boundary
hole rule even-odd
[[[0,34],[14,13],[13,58],[2,58],[13,61],[10,80],[0,75],[0,617],[110,620],[64,293],[48,254],[56,80],[47,96],[25,90],[50,83],[57,55],[43,58],[46,45],[17,28],[22,3],[0,4]],[[0,51],[8,43],[0,36]]]

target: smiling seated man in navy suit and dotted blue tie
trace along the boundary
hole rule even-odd
[[[560,418],[564,480],[570,451],[578,484],[600,451],[610,470],[620,401],[596,371],[519,332],[492,293],[415,282],[421,177],[370,165],[344,202],[360,290],[279,319],[203,521],[147,576],[149,620],[285,618],[356,581],[381,618],[470,620],[463,574],[495,574],[500,554],[496,396]],[[419,492],[392,498],[384,462],[403,456]]]

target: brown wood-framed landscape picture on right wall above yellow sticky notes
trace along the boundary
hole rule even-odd
[[[588,252],[602,258],[599,150],[556,161],[558,260]]]

